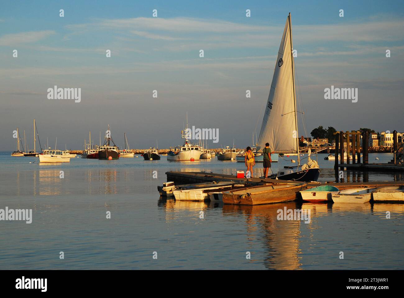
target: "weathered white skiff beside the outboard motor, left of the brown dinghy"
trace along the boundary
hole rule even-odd
[[[198,187],[194,189],[175,189],[173,191],[176,200],[184,200],[184,201],[204,201],[209,199],[210,191],[226,191],[231,190],[234,186],[234,182],[219,182],[210,187]],[[239,185],[244,187],[244,185]]]

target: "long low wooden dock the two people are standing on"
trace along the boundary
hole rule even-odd
[[[349,166],[349,165],[344,165]],[[351,165],[353,166],[353,165]],[[357,166],[357,165],[356,165]],[[216,174],[210,172],[166,172],[167,181],[173,181],[177,184],[191,184],[191,183],[204,183],[212,181],[234,181],[236,183],[244,183],[247,178],[237,178],[236,175]],[[290,183],[290,181],[280,179],[265,179],[265,178],[250,178],[248,183],[265,185],[266,183]],[[302,182],[303,184],[304,182]],[[372,181],[372,182],[346,182],[346,183],[307,183],[307,188],[316,187],[320,185],[332,185],[338,187],[340,190],[351,189],[356,187],[384,187],[384,186],[397,186],[404,185],[404,181]]]

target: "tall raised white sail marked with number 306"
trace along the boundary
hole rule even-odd
[[[265,143],[269,143],[269,147],[276,153],[297,152],[296,138],[298,137],[298,133],[290,32],[290,22],[287,19],[278,58],[276,59],[274,76],[259,134],[257,151],[262,151]]]

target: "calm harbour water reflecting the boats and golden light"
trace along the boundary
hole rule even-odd
[[[319,180],[335,180],[334,162],[325,161],[326,155],[318,155]],[[297,157],[285,157],[291,158]],[[370,163],[391,158],[369,154]],[[235,174],[244,168],[217,158],[29,164],[34,160],[0,153],[0,209],[33,210],[31,224],[0,221],[2,269],[404,269],[404,205],[233,206],[160,199],[157,185],[166,181],[166,171]],[[280,159],[274,172],[284,165],[291,162]],[[261,167],[257,164],[255,175]],[[348,181],[364,177],[345,175]],[[366,179],[404,180],[404,175],[370,172]],[[284,206],[310,209],[311,222],[277,220]]]

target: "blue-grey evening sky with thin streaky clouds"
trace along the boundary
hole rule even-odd
[[[219,128],[219,147],[233,139],[238,147],[250,145],[261,127],[289,12],[307,127],[306,133],[300,124],[299,134],[318,125],[404,131],[402,1],[0,5],[0,150],[14,149],[17,126],[29,141],[34,118],[42,143],[57,136],[61,147],[81,149],[88,130],[97,141],[110,124],[117,145],[123,146],[126,132],[133,148],[156,139],[167,148],[181,143],[186,112],[191,125]],[[82,101],[48,100],[54,85],[81,88]],[[358,103],[325,100],[331,85],[358,88]]]

